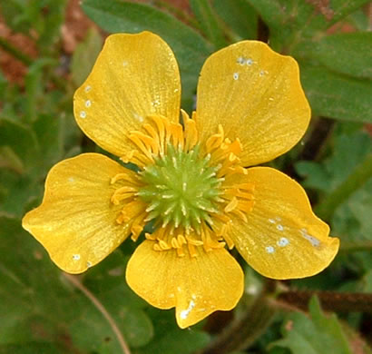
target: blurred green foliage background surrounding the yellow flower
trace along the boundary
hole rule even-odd
[[[83,0],[83,12],[100,30],[91,26],[72,55],[64,53],[61,38],[67,0],[7,0],[0,4],[5,24],[28,37],[38,53],[35,59],[28,58],[22,48],[14,51],[6,38],[0,38],[3,50],[27,65],[24,84],[12,83],[0,72],[1,354],[122,352],[97,303],[110,314],[133,354],[207,353],[222,329],[230,330],[231,340],[234,337],[231,319],[211,316],[181,330],[173,310],[157,310],[139,299],[123,276],[135,247],[130,241],[79,277],[84,292],[20,226],[24,212],[41,202],[44,178],[54,163],[97,149],[73,121],[72,97],[102,47],[103,31],[160,34],[179,61],[182,106],[188,111],[194,103],[201,65],[220,47],[244,39],[268,40],[275,50],[294,56],[314,119],[301,144],[285,160],[272,163],[302,180],[319,210],[336,191],[344,193],[327,214],[332,234],[341,239],[337,260],[318,276],[287,285],[372,292],[372,178],[367,165],[372,153],[372,33],[368,1],[191,0],[190,11],[175,7],[171,0],[147,3]],[[343,30],[345,26],[351,33]],[[69,64],[67,72],[64,61]],[[305,153],[309,147],[310,153]],[[363,178],[350,187],[348,182],[360,171]],[[265,284],[249,270],[246,293],[234,312],[236,319],[247,310],[254,311],[251,304]],[[289,305],[285,311],[277,310],[275,320],[262,327],[259,337],[247,341],[249,351],[237,345],[240,351],[234,353],[371,352],[367,345],[372,341],[370,303],[369,314],[367,310],[355,313],[351,307],[340,315],[342,320],[325,314],[316,298],[310,302],[309,314],[296,310],[296,303]],[[245,327],[256,325],[247,320]]]

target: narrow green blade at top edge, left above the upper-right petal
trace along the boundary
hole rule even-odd
[[[219,18],[210,6],[210,2],[208,0],[191,0],[190,5],[202,31],[210,42],[214,44],[216,48],[227,45],[225,36],[220,27]]]

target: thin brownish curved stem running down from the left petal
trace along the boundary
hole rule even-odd
[[[103,317],[109,322],[110,327],[113,329],[113,333],[116,336],[116,339],[118,339],[118,342],[120,346],[122,347],[122,352],[124,354],[131,354],[131,350],[128,347],[128,344],[126,343],[125,339],[122,337],[122,332],[116,325],[115,321],[113,320],[113,317],[110,315],[110,313],[103,307],[103,304],[98,300],[91,291],[89,291],[87,288],[85,288],[81,281],[78,280],[76,276],[73,276],[71,274],[63,273],[64,277],[69,280],[73,286],[75,286],[77,289],[81,290],[83,294],[92,301],[93,305],[96,307],[97,310],[99,310]]]

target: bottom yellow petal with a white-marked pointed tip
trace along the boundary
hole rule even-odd
[[[243,292],[243,272],[225,249],[198,255],[154,251],[154,241],[144,241],[128,262],[126,279],[144,300],[159,309],[176,307],[183,329],[216,310],[233,309]]]

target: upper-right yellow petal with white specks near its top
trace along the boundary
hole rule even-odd
[[[296,61],[257,41],[212,54],[201,69],[197,98],[201,142],[221,124],[230,140],[240,139],[245,166],[289,151],[310,118]]]

